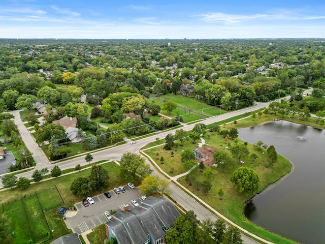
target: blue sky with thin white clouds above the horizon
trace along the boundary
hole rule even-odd
[[[325,38],[325,1],[1,0],[0,38]]]

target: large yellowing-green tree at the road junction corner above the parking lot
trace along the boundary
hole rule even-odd
[[[150,166],[145,164],[144,158],[140,155],[125,153],[121,157],[119,175],[122,179],[134,181],[136,174],[139,174],[141,177],[146,177],[151,172]]]

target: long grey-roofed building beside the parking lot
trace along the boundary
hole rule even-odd
[[[174,227],[180,216],[176,207],[165,197],[148,197],[139,206],[113,215],[105,223],[108,238],[114,236],[117,243],[160,244],[166,242],[166,232]]]

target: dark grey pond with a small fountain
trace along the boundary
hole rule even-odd
[[[290,239],[325,243],[325,131],[284,120],[238,131],[249,143],[274,145],[294,165],[288,176],[250,200],[245,216]]]

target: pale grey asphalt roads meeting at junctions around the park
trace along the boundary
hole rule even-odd
[[[305,94],[307,94],[307,93],[311,93],[311,89],[306,90]],[[209,124],[213,124],[213,123],[218,122],[218,121],[229,119],[229,118],[232,118],[234,116],[241,115],[241,114],[244,114],[244,113],[248,113],[248,112],[251,112],[251,111],[255,111],[257,109],[261,109],[261,108],[268,107],[268,106],[269,106],[269,103],[255,102],[254,106],[244,108],[244,109],[240,109],[240,110],[236,110],[236,111],[232,111],[230,113],[226,113],[226,114],[222,114],[222,115],[218,115],[218,116],[213,116],[213,117],[201,120],[198,123],[204,123],[205,125],[209,125]],[[42,168],[47,167],[49,170],[51,170],[54,165],[51,165],[48,162],[47,158],[45,157],[45,155],[43,154],[41,149],[37,146],[34,139],[31,138],[31,135],[27,131],[26,127],[22,124],[22,121],[20,120],[20,118],[17,119],[17,116],[19,117],[19,112],[12,111],[11,113],[15,115],[16,123],[18,125],[19,130],[20,130],[20,133],[22,134],[22,139],[24,140],[25,144],[27,145],[27,148],[32,153],[34,153],[34,155],[36,156],[35,157],[35,162],[37,163],[37,168],[42,169]],[[17,113],[18,113],[18,115],[17,115]],[[185,131],[189,131],[194,127],[194,125],[195,124],[185,125],[184,127],[182,127],[182,129],[185,130]],[[153,135],[153,136],[150,136],[150,137],[147,137],[147,138],[137,140],[137,143],[133,144],[133,145],[127,143],[127,144],[119,145],[119,146],[116,146],[116,147],[108,148],[108,149],[105,149],[105,150],[102,150],[102,151],[96,151],[94,153],[91,153],[91,155],[93,156],[93,161],[94,162],[95,161],[100,161],[100,160],[119,160],[124,153],[130,152],[130,153],[139,154],[139,150],[142,147],[144,147],[145,145],[147,145],[148,143],[154,142],[156,140],[156,138],[164,139],[170,133],[175,134],[175,131],[176,131],[176,129],[161,132],[158,135]],[[30,140],[30,138],[28,138],[28,135],[29,135],[29,137],[31,138],[32,141]],[[68,168],[74,168],[75,165],[77,165],[77,164],[86,165],[87,163],[86,163],[84,157],[85,156],[81,156],[81,157],[74,158],[74,159],[71,159],[71,160],[63,161],[61,163],[57,163],[55,165],[59,166],[61,170],[68,169]],[[153,168],[153,170],[154,170],[155,174],[159,174],[159,172],[155,168]],[[32,174],[32,171],[29,171],[29,172],[24,172],[22,174],[19,174],[17,176],[18,177],[24,176],[24,177],[27,177],[27,178],[31,178],[31,174]],[[2,187],[2,182],[0,183],[0,187]],[[194,210],[194,212],[198,216],[199,220],[204,220],[204,219],[207,219],[207,218],[210,218],[212,221],[216,220],[215,215],[213,215],[209,210],[207,210],[205,207],[203,207],[201,204],[199,204],[195,199],[188,196],[179,187],[176,187],[174,184],[171,184],[171,190],[172,190],[171,197],[174,200],[176,200],[178,202],[178,204],[180,204],[185,209]],[[237,226],[237,227],[239,227],[239,226]],[[239,227],[239,228],[241,230],[243,230],[241,227]],[[245,230],[243,230],[243,231],[248,233]],[[254,241],[254,240],[246,237],[245,235],[242,235],[242,238],[244,240],[244,243],[259,243],[257,241]],[[259,238],[259,237],[258,237],[258,239],[260,239],[262,242],[265,242],[265,243],[272,243],[272,242],[266,241],[266,240],[264,240],[262,238]]]

